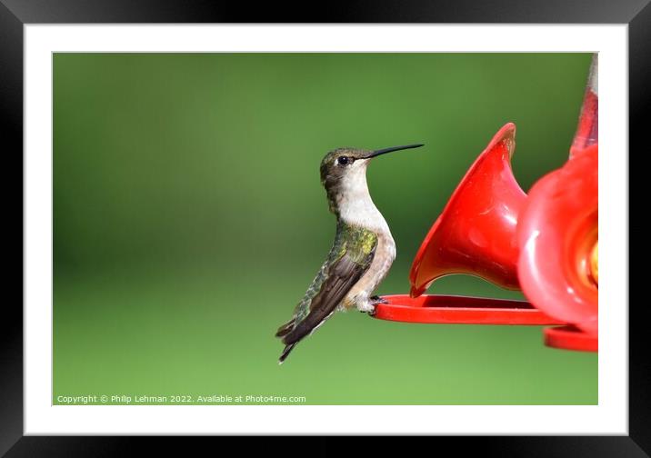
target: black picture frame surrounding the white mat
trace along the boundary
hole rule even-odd
[[[23,158],[23,30],[28,24],[75,23],[565,23],[626,24],[629,39],[629,145],[641,153],[643,110],[649,106],[651,91],[651,5],[649,0],[568,0],[541,2],[524,0],[391,0],[350,1],[282,5],[267,3],[252,7],[245,2],[210,0],[0,0],[0,132],[5,158]],[[622,152],[623,160],[628,160]],[[5,176],[17,174],[5,168]],[[21,172],[21,180],[22,180]],[[5,180],[5,183],[7,180]],[[6,196],[13,195],[6,193]],[[5,204],[9,199],[5,199]],[[17,213],[17,211],[16,211]],[[5,221],[10,221],[8,214]],[[21,236],[23,217],[21,204]],[[5,224],[17,233],[13,224]],[[5,238],[5,246],[11,244]],[[17,250],[17,248],[15,248]],[[22,249],[21,249],[22,254]],[[21,262],[21,267],[23,263]],[[623,266],[626,267],[627,266]],[[22,284],[21,268],[21,284]],[[9,286],[9,282],[5,282]],[[17,284],[11,285],[17,289]],[[5,295],[0,332],[0,455],[15,456],[122,456],[140,453],[151,440],[133,437],[43,437],[23,434],[23,313],[22,300]],[[22,288],[21,288],[22,297]],[[626,304],[611,304],[626,306]],[[642,305],[642,304],[638,304]],[[629,435],[590,437],[476,437],[436,438],[436,450],[446,446],[455,453],[475,451],[486,456],[532,457],[622,457],[651,456],[651,364],[646,349],[649,333],[642,318],[644,305],[629,309]],[[278,440],[280,439],[280,440]],[[222,441],[224,439],[221,439]],[[271,440],[271,439],[270,439]],[[174,452],[168,438],[159,445]],[[336,453],[330,440],[315,439],[308,449],[295,453]],[[382,441],[375,441],[381,444]],[[277,445],[275,445],[277,444]],[[229,444],[242,447],[242,442]],[[225,447],[225,444],[221,444]],[[246,442],[247,452],[253,445]],[[430,446],[430,445],[425,445]],[[265,441],[259,451],[277,447],[292,453],[282,438]],[[450,447],[448,449],[448,447]],[[185,448],[179,449],[184,450]],[[433,450],[433,453],[436,453]],[[370,452],[368,449],[367,452]],[[151,450],[150,450],[151,452]],[[266,452],[265,452],[266,453]]]

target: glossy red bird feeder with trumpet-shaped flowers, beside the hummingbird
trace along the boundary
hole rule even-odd
[[[598,347],[597,64],[563,167],[529,194],[511,169],[516,126],[506,124],[457,185],[421,244],[409,295],[384,296],[378,319],[431,324],[556,324],[548,346]],[[527,300],[423,295],[436,279],[472,274]]]

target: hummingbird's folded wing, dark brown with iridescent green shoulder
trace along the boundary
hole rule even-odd
[[[276,333],[286,345],[281,363],[296,343],[335,312],[337,305],[370,267],[376,246],[377,235],[363,228],[348,227],[337,237],[328,260],[304,300],[296,306],[294,318]]]

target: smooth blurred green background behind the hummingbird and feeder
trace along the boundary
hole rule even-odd
[[[336,314],[285,364],[275,329],[335,234],[338,146],[426,147],[368,170],[397,244],[379,294],[493,134],[527,190],[566,160],[590,55],[55,54],[54,393],[310,404],[589,404],[597,355],[526,326]],[[449,276],[429,293],[520,298]],[[109,401],[109,403],[111,403]]]

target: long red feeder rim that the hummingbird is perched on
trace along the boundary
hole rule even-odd
[[[388,304],[377,304],[375,318],[428,324],[566,324],[543,314],[526,301],[457,295],[407,294],[382,296]]]

